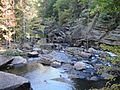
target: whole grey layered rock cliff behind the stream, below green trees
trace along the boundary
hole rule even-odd
[[[84,45],[86,41],[89,42],[89,45],[91,42],[120,45],[120,25],[116,29],[108,30],[106,25],[96,23],[89,31],[90,25],[83,25],[82,23],[83,18],[65,24],[60,28],[46,28],[48,42],[68,42],[74,46]]]

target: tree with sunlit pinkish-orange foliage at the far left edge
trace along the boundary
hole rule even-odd
[[[0,22],[1,26],[6,27],[6,29],[2,27],[2,30],[5,32],[2,35],[10,47],[12,35],[15,34],[15,32],[12,31],[10,28],[15,27],[17,25],[14,13],[14,0],[1,0],[0,10],[2,19],[2,22]]]

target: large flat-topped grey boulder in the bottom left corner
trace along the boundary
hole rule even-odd
[[[0,90],[31,90],[30,82],[14,74],[0,71]]]

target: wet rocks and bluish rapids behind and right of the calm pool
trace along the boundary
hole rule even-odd
[[[86,51],[83,47],[66,47],[63,50],[58,49],[42,53],[38,55],[38,58],[30,58],[28,61],[36,60],[43,65],[62,68],[71,78],[97,81],[112,77],[107,71],[100,71],[100,68],[104,66],[114,67],[110,62],[103,60],[108,55],[110,57],[116,56],[114,53],[94,48],[89,48]]]

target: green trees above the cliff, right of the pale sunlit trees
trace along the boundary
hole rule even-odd
[[[69,19],[81,17],[84,9],[87,9],[89,15],[118,13],[120,2],[119,0],[43,0],[43,7],[44,18],[54,17],[56,21],[63,24]]]

